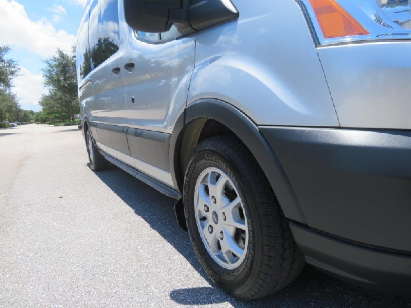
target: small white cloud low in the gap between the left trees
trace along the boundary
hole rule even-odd
[[[20,69],[20,73],[14,79],[13,92],[17,94],[21,108],[32,109],[33,105],[38,104],[42,94],[47,94],[43,87],[43,76],[33,74],[24,67]]]

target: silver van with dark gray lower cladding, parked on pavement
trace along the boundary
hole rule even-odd
[[[178,200],[235,297],[277,292],[305,262],[407,294],[410,39],[409,0],[89,0],[90,167]]]

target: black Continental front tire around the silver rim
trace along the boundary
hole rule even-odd
[[[249,244],[244,261],[236,269],[226,269],[213,260],[197,227],[194,191],[199,175],[209,167],[231,175],[231,180],[236,178],[239,194],[245,200]],[[302,271],[304,256],[294,241],[289,221],[261,167],[235,138],[217,136],[196,147],[185,173],[184,207],[190,240],[203,269],[234,297],[264,297],[289,285]]]

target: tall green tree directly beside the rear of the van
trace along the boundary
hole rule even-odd
[[[70,55],[59,48],[44,63],[44,85],[50,91],[42,97],[39,104],[50,116],[53,114],[55,117],[74,121],[75,115],[80,112],[75,48]]]

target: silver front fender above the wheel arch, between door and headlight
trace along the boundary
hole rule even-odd
[[[311,32],[296,2],[233,3],[238,20],[197,35],[187,102],[221,99],[259,125],[339,126]]]

